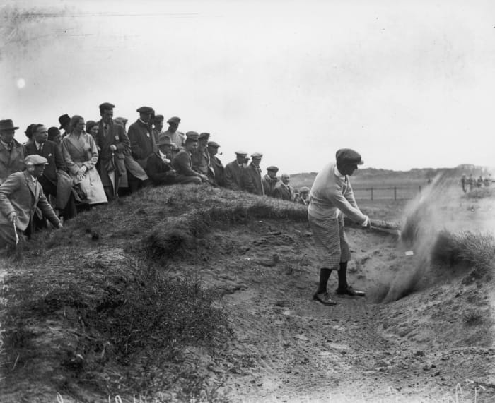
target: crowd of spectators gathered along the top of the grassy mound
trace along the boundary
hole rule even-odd
[[[180,118],[165,118],[140,107],[138,119],[114,119],[115,105],[100,104],[100,119],[59,116],[59,127],[30,124],[28,140],[15,138],[18,127],[0,120],[0,248],[19,234],[54,227],[93,205],[107,203],[146,186],[209,184],[308,205],[310,189],[295,191],[278,167],[262,175],[263,155],[235,152],[224,167],[219,143],[210,133],[178,130]]]

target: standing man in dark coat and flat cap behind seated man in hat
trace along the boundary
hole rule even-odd
[[[140,107],[136,109],[139,112],[139,118],[129,126],[127,136],[131,141],[132,157],[136,162],[146,170],[146,162],[148,157],[156,150],[158,138],[154,138],[151,124],[153,124],[153,116],[155,112],[151,107]],[[136,191],[144,186],[144,182],[137,179],[133,174],[128,172],[129,187],[131,191]]]

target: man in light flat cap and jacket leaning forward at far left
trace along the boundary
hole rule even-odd
[[[18,241],[23,241],[24,232],[30,236],[36,207],[55,228],[62,228],[38,182],[47,159],[28,155],[24,163],[25,171],[11,174],[0,186],[0,248],[16,246]]]

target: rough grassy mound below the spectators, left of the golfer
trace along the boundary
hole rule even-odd
[[[4,395],[120,394],[190,399],[208,391],[196,349],[213,359],[232,337],[219,296],[171,275],[214,227],[304,221],[303,206],[197,186],[151,188],[40,232],[8,262]],[[196,264],[199,264],[197,262]],[[204,369],[204,368],[203,368]],[[210,396],[212,396],[210,393]]]

